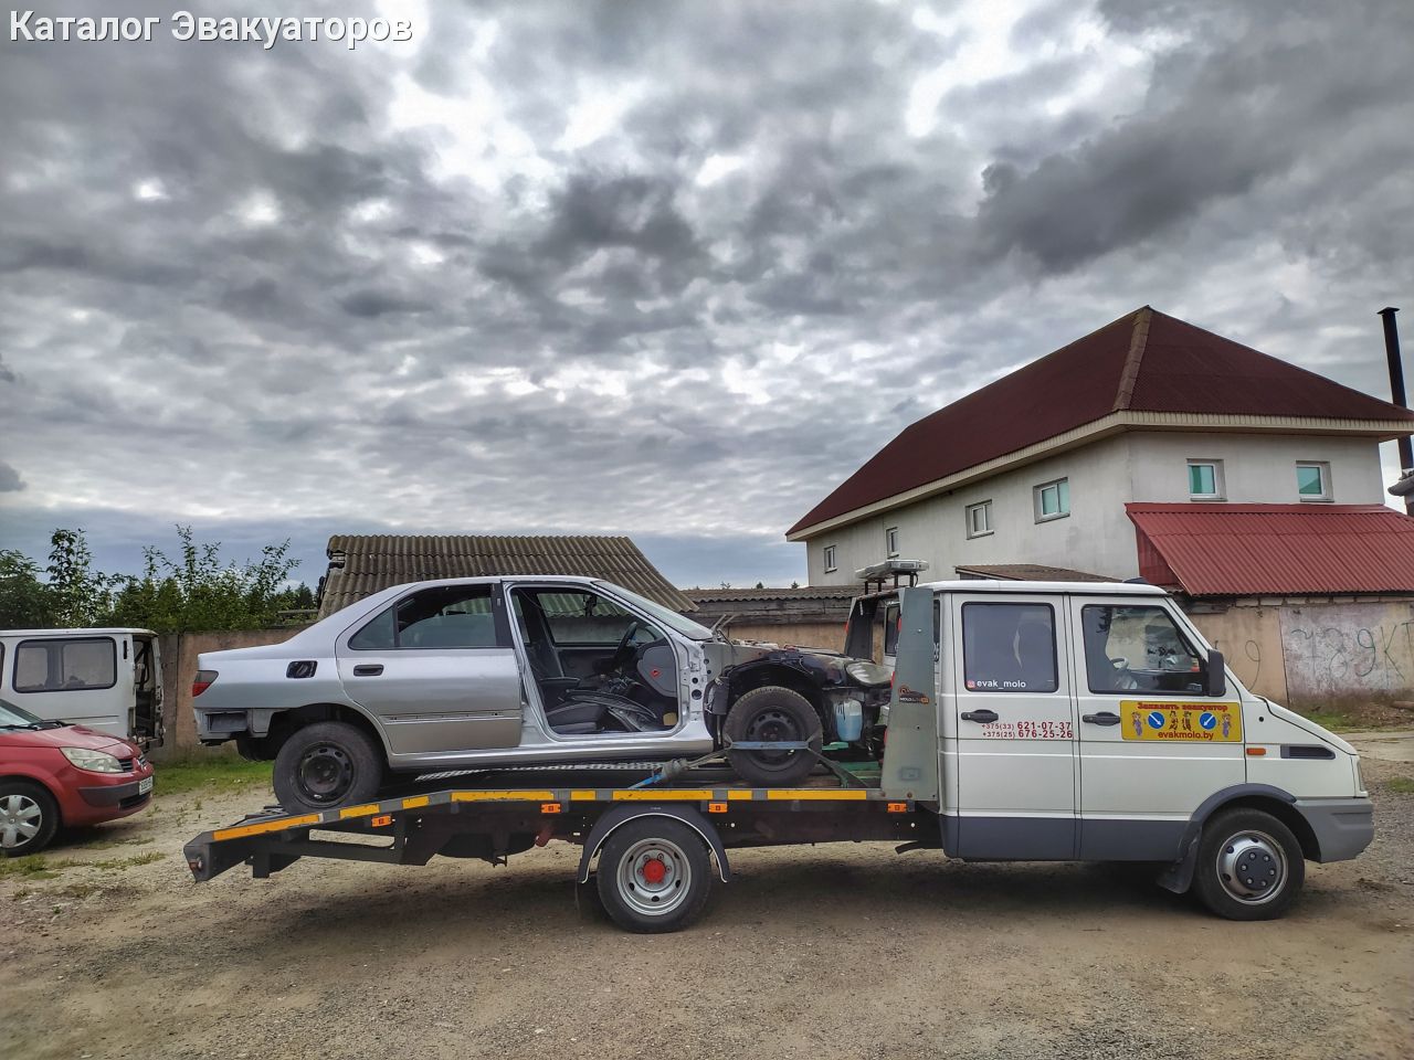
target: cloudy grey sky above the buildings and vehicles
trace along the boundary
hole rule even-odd
[[[1376,311],[1414,342],[1407,0],[298,6],[411,20],[352,52],[181,7],[270,14],[0,37],[0,547],[782,584],[905,423],[1138,305],[1380,396]]]

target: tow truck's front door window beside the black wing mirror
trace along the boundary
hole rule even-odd
[[[1080,609],[1092,693],[1202,693],[1203,659],[1164,608],[1092,603]]]

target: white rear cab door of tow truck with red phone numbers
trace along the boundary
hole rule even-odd
[[[1076,851],[1075,701],[1055,598],[954,594],[957,842],[962,858]],[[952,758],[949,755],[949,758]]]

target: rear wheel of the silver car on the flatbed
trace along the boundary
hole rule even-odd
[[[383,783],[383,756],[368,734],[342,721],[294,732],[274,756],[274,796],[290,813],[366,803]]]

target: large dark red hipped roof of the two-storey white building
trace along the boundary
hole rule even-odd
[[[1117,411],[1403,421],[1414,413],[1143,307],[905,427],[788,534]]]

